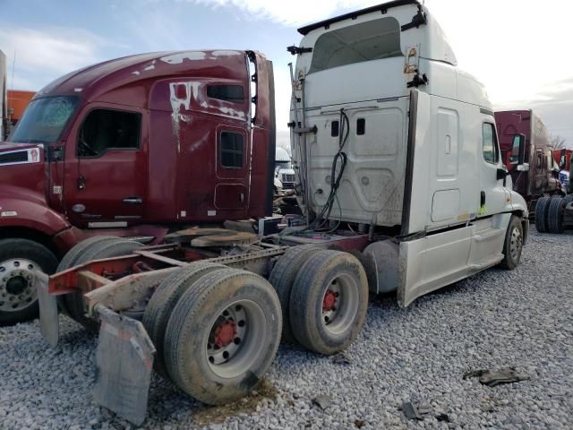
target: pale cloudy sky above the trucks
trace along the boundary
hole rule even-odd
[[[256,49],[274,63],[278,142],[287,145],[296,29],[383,0],[0,0],[8,87],[39,90],[103,60],[150,51]],[[426,0],[496,109],[533,108],[573,147],[570,0]],[[14,63],[15,57],[15,63]],[[13,67],[13,64],[15,66]]]

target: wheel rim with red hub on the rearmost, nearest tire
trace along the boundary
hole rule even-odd
[[[260,356],[267,330],[265,314],[252,300],[237,300],[221,309],[205,342],[211,371],[227,379],[244,374]],[[227,343],[231,333],[233,339]]]

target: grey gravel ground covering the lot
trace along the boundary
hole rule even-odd
[[[533,231],[516,271],[485,271],[406,310],[376,298],[349,364],[281,346],[258,391],[235,405],[205,407],[154,375],[141,428],[573,428],[572,254],[573,236]],[[60,318],[56,349],[38,322],[0,328],[0,428],[133,428],[92,403],[97,339]],[[504,366],[531,379],[490,388],[462,378]],[[408,421],[404,401],[431,412]]]

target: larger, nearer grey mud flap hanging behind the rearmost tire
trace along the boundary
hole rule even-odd
[[[147,411],[155,347],[139,321],[102,305],[95,310],[101,328],[94,400],[140,426]]]

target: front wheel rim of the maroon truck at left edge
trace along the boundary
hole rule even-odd
[[[36,270],[41,270],[38,264],[25,258],[0,262],[0,311],[18,312],[34,304]]]

